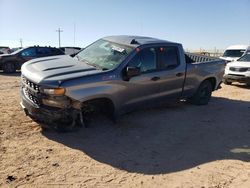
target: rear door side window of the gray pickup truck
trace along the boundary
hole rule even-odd
[[[174,46],[159,48],[159,63],[161,68],[175,68],[179,65],[178,48]]]

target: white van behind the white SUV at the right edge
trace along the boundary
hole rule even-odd
[[[242,55],[250,51],[250,45],[233,45],[229,46],[222,57],[220,59],[223,59],[227,62],[230,61],[236,61],[239,59]]]

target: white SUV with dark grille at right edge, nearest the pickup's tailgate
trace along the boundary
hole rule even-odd
[[[232,82],[250,85],[250,52],[247,52],[237,61],[227,64],[223,82],[227,85],[232,84]]]

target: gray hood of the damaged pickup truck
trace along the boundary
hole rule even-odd
[[[37,84],[59,86],[63,81],[102,72],[68,55],[37,58],[23,64],[22,75]]]

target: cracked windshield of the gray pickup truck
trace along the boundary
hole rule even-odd
[[[101,39],[82,50],[75,58],[94,67],[109,70],[118,66],[132,50],[132,47]]]

